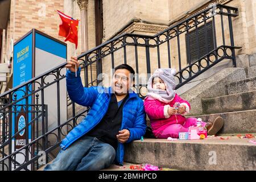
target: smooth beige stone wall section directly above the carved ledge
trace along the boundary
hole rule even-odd
[[[103,0],[104,40],[112,38],[134,19],[167,25],[168,14],[167,0]]]

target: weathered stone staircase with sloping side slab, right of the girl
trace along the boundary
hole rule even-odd
[[[223,136],[136,140],[127,144],[125,162],[181,170],[256,170],[256,145],[237,137],[256,133],[256,66],[222,69],[181,97],[191,103],[188,117],[223,117],[218,133]]]

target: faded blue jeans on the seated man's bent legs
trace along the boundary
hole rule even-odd
[[[60,150],[44,171],[86,171],[108,168],[115,159],[115,150],[95,137],[83,136],[66,150]]]

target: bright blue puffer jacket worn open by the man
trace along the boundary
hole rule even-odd
[[[71,130],[62,140],[60,147],[63,150],[82,137],[82,135],[92,130],[93,127],[101,121],[108,110],[110,102],[111,88],[104,88],[100,86],[84,88],[81,82],[80,71],[81,69],[79,68],[77,71],[77,77],[75,77],[75,73],[69,70],[67,71],[68,94],[73,102],[82,106],[90,107],[90,110],[85,119]],[[134,92],[129,93],[129,97],[123,105],[123,118],[120,130],[123,129],[130,131],[130,138],[126,143],[140,139],[146,131],[146,114],[144,112],[143,101]],[[124,154],[124,144],[118,142],[115,162],[121,166],[123,165]]]

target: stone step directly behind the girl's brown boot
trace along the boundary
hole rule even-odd
[[[256,110],[234,111],[230,113],[217,113],[189,116],[195,118],[202,118],[203,121],[212,121],[221,116],[224,118],[224,126],[218,132],[220,134],[229,133],[256,133]]]

